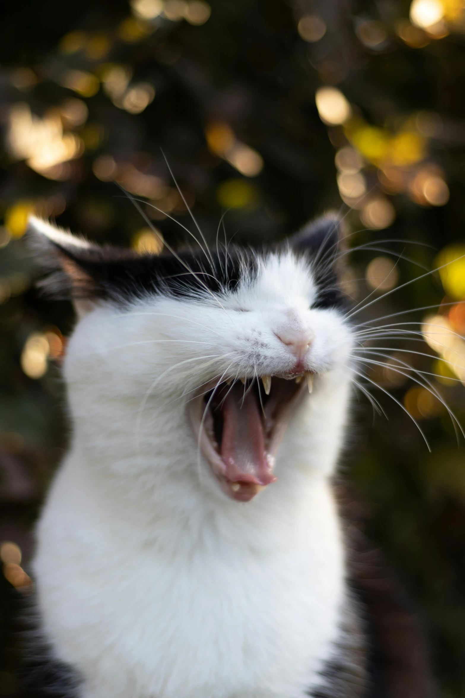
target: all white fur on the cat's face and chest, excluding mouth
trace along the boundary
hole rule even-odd
[[[337,640],[344,554],[328,479],[343,438],[351,334],[310,310],[310,270],[270,255],[218,302],[101,303],[64,365],[73,443],[38,525],[33,569],[56,655],[82,698],[302,698]],[[295,415],[277,482],[220,489],[186,405],[217,377],[284,371],[275,332],[314,332],[324,375]]]

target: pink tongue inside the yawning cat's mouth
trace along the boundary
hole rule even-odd
[[[263,424],[257,400],[241,383],[234,383],[222,406],[221,456],[231,482],[266,485],[276,480],[265,449]]]

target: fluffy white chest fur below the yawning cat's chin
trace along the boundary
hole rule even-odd
[[[125,502],[123,520],[94,474],[68,456],[35,561],[45,630],[84,676],[82,696],[303,696],[337,637],[344,593],[325,478],[293,470],[256,502],[179,517],[166,540],[165,514],[141,537],[137,505],[131,520]]]

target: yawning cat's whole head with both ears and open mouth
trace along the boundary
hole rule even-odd
[[[161,255],[29,227],[55,268],[51,290],[77,309],[65,375],[75,429],[101,458],[112,433],[126,463],[165,458],[192,477],[200,463],[203,485],[245,502],[276,480],[296,430],[311,430],[309,409],[317,429],[340,426],[352,337],[337,218],[268,250]]]

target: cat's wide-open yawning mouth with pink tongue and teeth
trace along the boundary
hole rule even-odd
[[[222,489],[240,502],[275,482],[275,455],[298,397],[312,390],[313,374],[292,380],[224,381],[190,402],[190,417]]]

